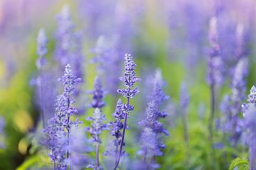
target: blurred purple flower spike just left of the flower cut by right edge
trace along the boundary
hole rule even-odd
[[[242,47],[240,47],[242,50]],[[224,132],[230,133],[230,142],[235,147],[242,135],[243,120],[240,118],[242,108],[240,103],[245,100],[246,91],[246,77],[248,75],[248,60],[247,57],[240,56],[238,64],[235,66],[233,80],[231,83],[232,94],[225,96],[223,102],[220,105],[220,110],[223,115],[223,127],[221,129]]]

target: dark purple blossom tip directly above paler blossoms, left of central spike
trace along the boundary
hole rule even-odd
[[[102,108],[105,106],[105,102],[102,101],[103,97],[105,96],[106,92],[102,89],[102,83],[99,77],[95,78],[94,81],[94,88],[91,92],[92,94],[92,102],[90,103],[90,107],[92,108]]]

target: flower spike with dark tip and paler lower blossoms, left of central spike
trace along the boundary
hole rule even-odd
[[[94,142],[96,148],[96,163],[88,165],[87,168],[102,169],[99,159],[100,145],[102,143],[100,135],[102,134],[103,130],[108,130],[109,128],[107,124],[103,123],[104,120],[107,120],[105,115],[102,114],[102,107],[105,106],[105,102],[102,101],[103,97],[105,96],[105,91],[102,89],[102,84],[98,77],[95,78],[94,89],[91,94],[92,102],[90,103],[90,107],[95,108],[95,110],[93,117],[87,118],[87,120],[92,121],[91,128],[86,128],[85,130],[90,132],[90,135],[92,136],[92,142]]]

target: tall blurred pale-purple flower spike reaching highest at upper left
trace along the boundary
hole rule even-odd
[[[59,69],[69,63],[73,67],[74,74],[84,78],[83,63],[85,57],[82,55],[81,33],[75,32],[75,25],[68,5],[63,6],[62,11],[57,16],[57,21],[55,61],[59,65]],[[75,97],[79,97],[80,92],[80,86],[77,86],[74,92]],[[83,109],[79,108],[79,110],[82,111]]]

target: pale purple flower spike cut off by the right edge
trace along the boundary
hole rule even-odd
[[[249,133],[247,135],[247,142],[249,144],[249,160],[250,169],[256,170],[256,88],[252,86],[247,101],[249,103],[243,104],[243,112],[245,117],[245,125]]]

